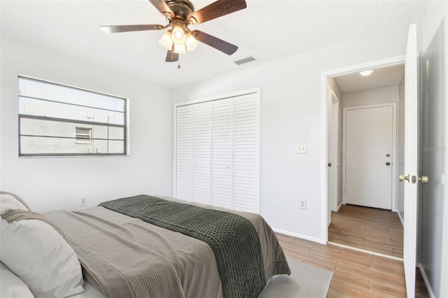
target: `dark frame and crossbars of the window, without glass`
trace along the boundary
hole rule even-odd
[[[121,99],[123,100],[123,112],[119,112],[119,113],[123,113],[123,125],[118,125],[118,124],[113,124],[113,123],[103,123],[103,122],[94,122],[94,121],[88,121],[88,120],[75,120],[75,119],[69,119],[69,118],[55,118],[55,117],[47,117],[47,116],[43,116],[43,115],[27,115],[27,114],[21,114],[20,113],[20,97],[27,97],[24,95],[20,95],[20,78],[25,78],[28,80],[36,80],[36,81],[40,81],[43,83],[48,83],[48,84],[52,84],[52,85],[59,85],[62,87],[68,87],[74,90],[81,90],[84,92],[90,92],[93,94],[100,94],[100,95],[104,95],[106,97],[114,97],[116,99]],[[108,93],[104,93],[104,92],[97,92],[94,90],[89,90],[89,89],[85,89],[82,87],[75,87],[72,85],[66,85],[66,84],[62,84],[62,83],[57,83],[51,80],[43,80],[41,78],[34,78],[31,76],[23,76],[23,75],[18,75],[18,155],[19,157],[102,157],[102,156],[111,156],[111,157],[116,157],[116,156],[130,156],[130,141],[129,141],[129,132],[130,132],[130,121],[129,121],[129,106],[130,106],[130,100],[127,97],[120,97],[117,95],[113,95],[113,94],[108,94]],[[43,100],[43,101],[54,101],[54,102],[62,102],[62,101],[57,101],[57,100],[48,100],[48,99],[39,99],[36,97],[28,97],[31,99],[38,99],[38,100]],[[86,108],[95,108],[92,106],[85,106],[82,104],[71,104],[74,106],[84,106]],[[97,108],[97,109],[103,109],[103,110],[107,110],[105,108]],[[113,111],[113,110],[110,110]],[[80,127],[80,128],[85,128],[82,126],[86,126],[86,125],[92,125],[92,126],[103,126],[103,127],[119,127],[119,128],[123,128],[123,140],[122,139],[101,139],[101,138],[94,138],[94,136],[91,135],[90,137],[90,143],[92,143],[92,141],[94,140],[109,140],[109,141],[123,141],[123,152],[120,153],[108,153],[108,152],[86,152],[86,153],[76,153],[76,152],[71,152],[71,153],[23,153],[22,152],[22,142],[21,142],[21,137],[22,136],[29,136],[27,134],[21,134],[22,131],[22,125],[21,125],[21,120],[22,119],[34,119],[34,120],[48,120],[48,121],[53,121],[53,122],[66,122],[66,123],[71,123],[73,125],[75,125],[76,127]],[[93,134],[93,129],[92,129],[92,134]],[[75,141],[76,144],[89,144],[89,143],[84,143],[84,142],[79,142],[76,139],[76,132],[75,132],[75,136],[73,137],[67,137],[67,136],[45,136],[45,135],[32,135],[32,136],[37,136],[37,137],[48,137],[48,138],[57,138],[57,139],[73,139],[73,141]]]

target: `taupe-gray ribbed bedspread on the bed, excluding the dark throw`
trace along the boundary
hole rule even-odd
[[[266,279],[290,274],[265,220],[234,213],[258,233]],[[106,297],[223,297],[216,257],[203,241],[101,206],[45,215],[69,236],[85,278]]]

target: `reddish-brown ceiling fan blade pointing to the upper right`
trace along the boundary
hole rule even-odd
[[[229,13],[235,13],[235,11],[246,8],[246,1],[244,0],[218,0],[211,3],[200,10],[190,13],[187,20],[191,24],[201,24],[209,20],[216,19],[216,17],[222,17]]]

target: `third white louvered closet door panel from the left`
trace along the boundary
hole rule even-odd
[[[211,201],[233,209],[233,99],[211,103]]]

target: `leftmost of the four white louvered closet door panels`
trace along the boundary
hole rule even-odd
[[[176,197],[193,198],[193,109],[176,108]]]

